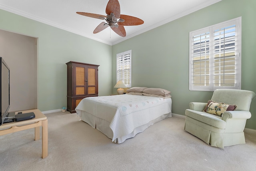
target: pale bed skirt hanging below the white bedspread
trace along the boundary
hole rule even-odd
[[[86,111],[82,111],[81,113],[81,118],[82,121],[88,123],[89,125],[91,125],[91,127],[93,127],[94,129],[98,129],[100,132],[104,133],[108,138],[112,139],[113,138],[113,131],[112,129],[109,127],[110,122],[101,119],[99,117],[96,117],[90,113],[87,113]],[[114,140],[112,140],[114,143],[122,143],[124,142],[126,139],[128,138],[132,138],[134,137],[137,133],[141,133],[143,132],[145,129],[147,129],[148,127],[150,127],[150,125],[153,125],[154,123],[161,121],[167,117],[172,117],[172,112],[161,115],[160,117],[144,124],[141,125],[139,127],[136,127],[131,133],[129,133],[128,135],[124,135],[122,137],[118,137]]]

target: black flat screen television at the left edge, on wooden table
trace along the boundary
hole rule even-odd
[[[0,57],[0,115],[3,124],[10,108],[10,68],[2,57]]]

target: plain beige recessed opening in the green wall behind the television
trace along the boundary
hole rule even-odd
[[[0,57],[10,68],[10,109],[37,109],[38,38],[0,30]]]

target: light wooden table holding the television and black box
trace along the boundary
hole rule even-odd
[[[24,121],[14,121],[4,123],[0,126],[0,135],[18,132],[30,128],[35,128],[35,141],[40,139],[40,126],[42,126],[42,158],[48,156],[48,120],[38,109],[22,111],[22,113],[34,112],[35,117]],[[15,114],[17,114],[16,112]]]

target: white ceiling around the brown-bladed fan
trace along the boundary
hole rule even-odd
[[[108,0],[0,0],[0,9],[114,45],[219,1],[119,0],[121,14],[144,20],[144,24],[139,26],[124,26],[126,30],[124,38],[110,27],[93,34],[102,20],[76,14],[76,12],[89,12],[106,15]]]

